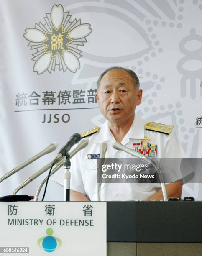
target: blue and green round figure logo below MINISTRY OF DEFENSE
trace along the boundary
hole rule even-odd
[[[55,251],[55,249],[58,249],[62,245],[62,242],[59,238],[52,236],[53,235],[52,228],[47,228],[46,234],[47,236],[43,236],[39,238],[37,241],[38,246],[43,248],[44,251],[53,252]]]

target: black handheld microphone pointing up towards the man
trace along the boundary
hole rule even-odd
[[[70,138],[69,141],[64,145],[59,153],[55,156],[52,164],[56,164],[63,156],[66,156],[66,154],[69,152],[69,150],[77,144],[81,140],[81,135],[79,133],[74,133]]]

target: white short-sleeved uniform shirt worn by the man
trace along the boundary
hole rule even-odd
[[[184,151],[174,131],[169,135],[164,133],[145,130],[146,121],[135,116],[130,130],[121,142],[124,146],[132,148],[133,143],[140,143],[144,136],[151,139],[149,143],[157,145],[157,158],[185,158]],[[88,154],[100,154],[100,143],[106,141],[108,144],[106,158],[131,158],[131,155],[114,149],[111,144],[115,138],[106,121],[100,126],[97,133],[87,137],[89,145],[79,151],[71,159],[71,189],[87,195],[90,200],[97,200],[97,159],[88,159]],[[53,180],[63,185],[63,168],[53,176]],[[181,174],[177,179],[182,178]],[[147,200],[155,194],[160,184],[137,184],[137,183],[105,183],[101,186],[101,201],[114,200]]]

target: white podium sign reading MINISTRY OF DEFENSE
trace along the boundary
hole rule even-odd
[[[0,202],[0,255],[106,256],[106,202]]]

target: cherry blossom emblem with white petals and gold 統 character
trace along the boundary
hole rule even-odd
[[[78,46],[84,46],[86,37],[92,32],[90,24],[81,24],[81,20],[71,21],[69,12],[64,12],[62,5],[54,5],[51,13],[46,13],[45,24],[35,23],[35,28],[27,28],[23,35],[31,49],[35,61],[33,71],[42,74],[51,73],[56,65],[65,72],[80,69],[79,58],[82,57]]]

